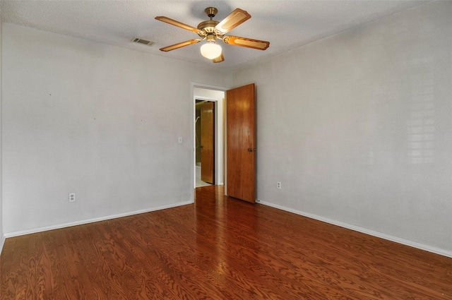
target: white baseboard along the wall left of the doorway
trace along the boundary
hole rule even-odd
[[[45,226],[45,227],[21,230],[18,232],[8,232],[8,233],[4,234],[4,239],[8,238],[8,237],[13,237],[13,236],[22,236],[25,234],[35,234],[37,232],[46,232],[47,230],[60,229],[60,228],[64,228],[64,227],[71,227],[71,226],[88,224],[88,223],[93,223],[93,222],[112,220],[112,219],[116,219],[118,217],[128,217],[130,215],[138,215],[138,214],[142,214],[145,212],[153,212],[155,210],[165,210],[167,208],[176,208],[177,206],[188,205],[188,204],[192,204],[192,203],[193,203],[193,201],[185,201],[185,202],[179,202],[179,203],[175,203],[175,204],[171,204],[171,205],[162,205],[162,206],[157,206],[155,208],[148,208],[145,210],[135,210],[133,212],[124,212],[124,213],[117,214],[117,215],[107,215],[104,217],[95,217],[93,219],[88,219],[88,220],[81,220],[81,221],[69,222],[69,223],[63,223],[63,224],[55,224],[55,225],[50,225],[50,226]],[[1,246],[3,246],[3,244],[1,244]]]

